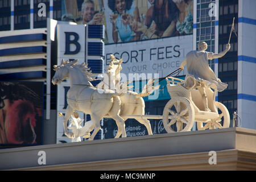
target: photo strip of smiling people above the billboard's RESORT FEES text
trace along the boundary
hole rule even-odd
[[[193,33],[193,0],[63,0],[62,20],[104,24],[105,44]]]

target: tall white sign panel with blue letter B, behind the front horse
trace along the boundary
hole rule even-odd
[[[79,64],[85,60],[85,26],[83,24],[57,24],[57,64],[61,60],[78,59]],[[59,113],[65,114],[67,108],[67,92],[69,89],[69,80],[61,82],[57,86],[57,143],[71,142],[64,135],[63,117]],[[78,112],[79,117],[84,119],[84,113]],[[68,122],[69,125],[70,122]]]

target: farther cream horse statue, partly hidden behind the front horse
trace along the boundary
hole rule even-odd
[[[120,84],[122,70],[122,59],[118,60],[114,55],[110,55],[110,64],[107,71],[108,81],[103,80],[97,86],[98,88],[109,88],[109,89],[124,89],[125,84]],[[120,116],[126,121],[124,115],[144,115],[145,114],[145,103],[142,97],[149,96],[155,89],[158,89],[160,85],[153,86],[154,80],[148,81],[147,85],[144,86],[142,93],[136,93],[131,90],[120,95],[121,99],[121,111]],[[130,87],[127,87],[129,89]],[[150,121],[146,118],[136,118],[136,120],[146,126],[148,135],[152,135]],[[116,137],[119,137],[120,133]]]

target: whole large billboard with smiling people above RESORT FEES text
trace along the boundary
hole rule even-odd
[[[64,21],[105,25],[105,69],[114,54],[122,73],[164,77],[193,48],[192,0],[63,0],[63,7]]]

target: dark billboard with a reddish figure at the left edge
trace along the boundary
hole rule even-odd
[[[44,82],[0,81],[0,144],[42,144]]]

